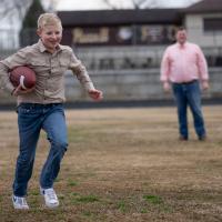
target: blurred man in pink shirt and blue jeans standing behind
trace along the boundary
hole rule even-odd
[[[200,47],[186,41],[186,31],[176,31],[176,42],[167,48],[161,62],[161,81],[165,91],[170,82],[178,107],[180,140],[189,139],[188,105],[193,115],[199,140],[205,140],[206,132],[201,110],[201,87],[209,88],[208,65]],[[201,84],[201,87],[200,87]]]

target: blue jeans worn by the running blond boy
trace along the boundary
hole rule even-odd
[[[32,174],[36,149],[43,129],[50,142],[50,151],[40,175],[43,189],[52,188],[60,171],[60,163],[68,148],[63,105],[22,103],[18,107],[20,147],[17,159],[13,194],[24,196]]]

